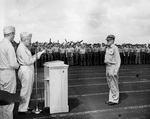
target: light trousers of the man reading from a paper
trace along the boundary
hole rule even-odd
[[[34,66],[21,66],[18,71],[18,77],[21,81],[22,86],[20,96],[23,99],[23,102],[19,105],[18,111],[25,112],[28,110],[34,83]]]

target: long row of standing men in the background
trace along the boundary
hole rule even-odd
[[[146,45],[117,45],[121,64],[150,64],[150,46]],[[107,45],[101,44],[80,44],[61,45],[61,44],[38,44],[38,49],[45,49],[38,60],[38,67],[42,67],[44,62],[62,60],[71,66],[91,66],[104,65],[105,49]],[[31,48],[34,54],[34,48]]]

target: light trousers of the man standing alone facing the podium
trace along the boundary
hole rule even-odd
[[[118,74],[114,75],[115,65],[106,65],[106,79],[109,86],[109,101],[119,102]]]

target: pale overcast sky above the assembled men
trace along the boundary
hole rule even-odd
[[[150,0],[0,0],[0,38],[3,27],[33,34],[32,41],[150,43]]]

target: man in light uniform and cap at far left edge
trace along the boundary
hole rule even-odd
[[[4,39],[0,42],[0,90],[15,93],[15,69],[19,67],[15,50],[11,43],[15,37],[15,27],[6,26],[3,32]],[[14,103],[0,106],[0,119],[13,119],[13,109]]]

